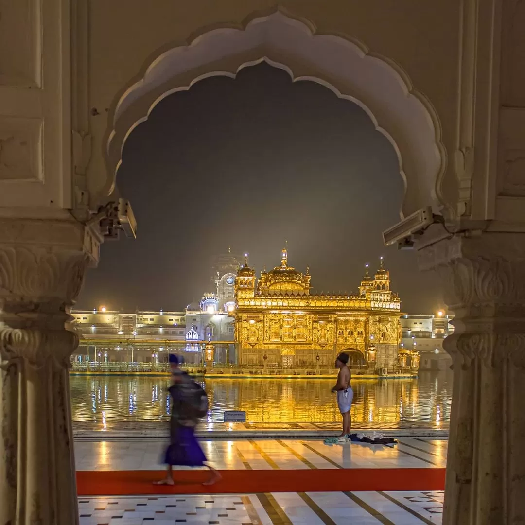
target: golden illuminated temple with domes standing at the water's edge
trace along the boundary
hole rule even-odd
[[[310,273],[288,264],[262,271],[239,268],[235,279],[235,343],[240,365],[268,369],[331,367],[347,352],[351,366],[379,374],[417,370],[418,354],[401,345],[400,298],[391,290],[390,274],[380,267],[366,273],[359,292],[313,295]]]

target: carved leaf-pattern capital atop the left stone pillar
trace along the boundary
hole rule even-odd
[[[88,266],[96,266],[100,239],[70,216],[51,219],[0,217],[2,316],[25,327],[37,313],[60,327],[74,304]],[[35,315],[31,316],[33,312]]]

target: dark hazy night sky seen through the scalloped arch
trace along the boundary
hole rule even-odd
[[[210,283],[210,257],[249,253],[257,275],[310,267],[313,292],[356,291],[385,257],[402,311],[442,307],[411,251],[385,248],[403,183],[391,144],[355,104],[260,64],[213,77],[155,107],[125,144],[117,180],[137,239],[102,246],[77,308],[182,310]]]

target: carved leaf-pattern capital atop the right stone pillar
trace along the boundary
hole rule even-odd
[[[444,240],[418,255],[440,274],[455,314],[444,343],[453,358],[467,364],[478,354],[489,366],[507,358],[525,366],[525,234]]]

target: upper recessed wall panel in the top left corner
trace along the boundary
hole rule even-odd
[[[0,86],[41,86],[41,0],[0,0]]]

